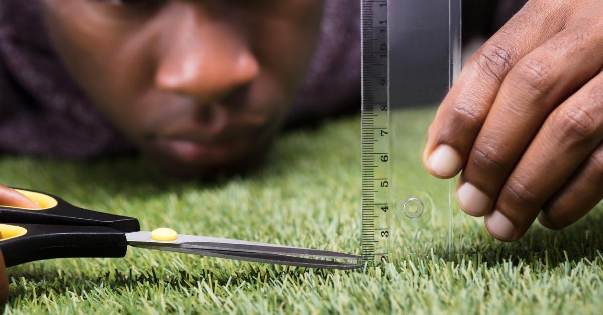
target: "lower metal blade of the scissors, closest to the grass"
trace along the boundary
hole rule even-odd
[[[251,261],[254,263],[280,264],[285,266],[324,268],[324,269],[356,269],[362,267],[362,264],[341,263],[338,261],[314,260],[301,257],[291,257],[275,254],[260,254],[254,252],[236,252],[236,251],[218,251],[210,249],[195,249],[172,246],[149,246],[133,245],[138,248],[157,249],[159,251],[182,252],[185,254],[201,255],[207,257],[226,258],[234,260]]]

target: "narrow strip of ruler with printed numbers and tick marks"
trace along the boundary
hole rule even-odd
[[[390,108],[387,0],[362,0],[362,257],[390,252]]]

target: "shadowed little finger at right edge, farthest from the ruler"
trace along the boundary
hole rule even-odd
[[[549,229],[565,228],[589,213],[602,199],[603,144],[546,202],[538,221]]]

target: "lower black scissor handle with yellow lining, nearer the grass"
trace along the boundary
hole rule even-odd
[[[51,258],[119,258],[128,247],[124,232],[104,226],[2,223],[0,233],[7,234],[0,239],[7,267]]]

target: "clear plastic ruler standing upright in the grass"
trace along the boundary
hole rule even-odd
[[[429,243],[452,258],[453,182],[423,170],[422,151],[461,66],[461,0],[361,4],[362,257],[377,266]]]

